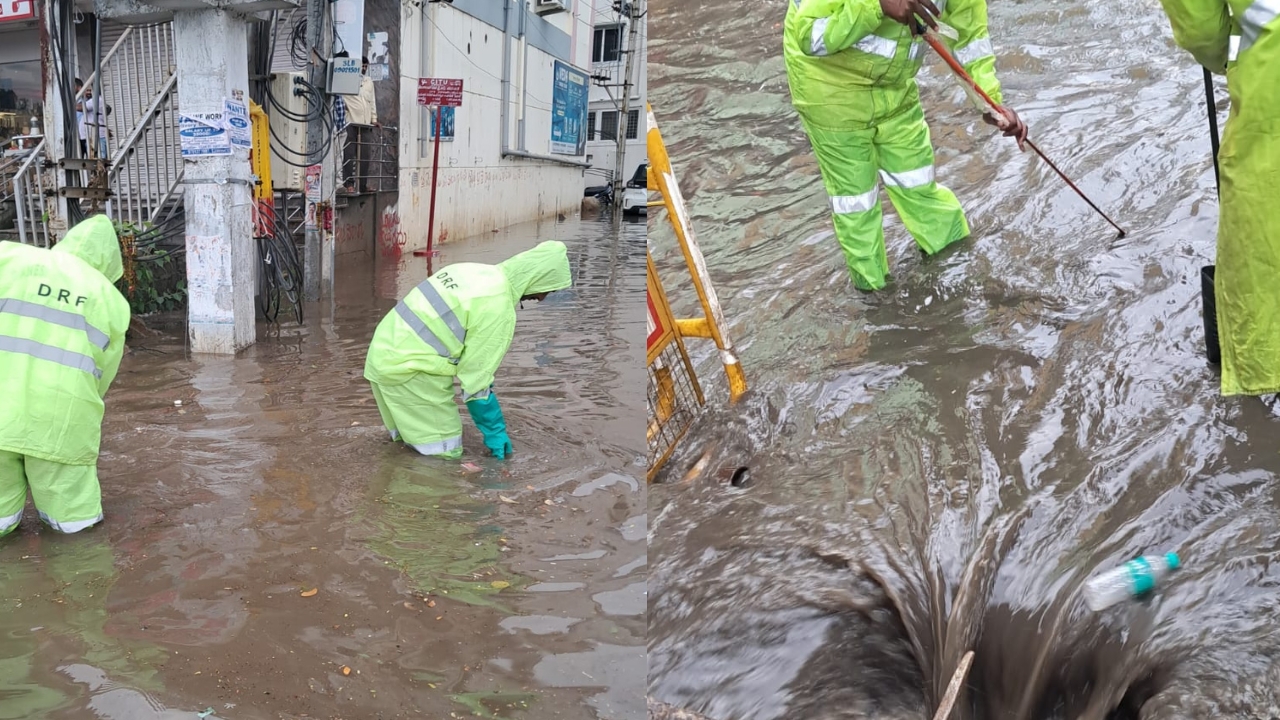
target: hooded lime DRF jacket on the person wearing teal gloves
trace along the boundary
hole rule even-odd
[[[407,382],[457,375],[463,396],[484,397],[516,334],[520,299],[572,283],[563,242],[547,241],[497,265],[448,265],[410,291],[374,331],[365,378]]]

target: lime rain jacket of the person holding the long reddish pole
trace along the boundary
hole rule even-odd
[[[938,18],[960,38],[943,42],[996,102],[996,56],[987,32],[986,0],[934,0]],[[914,100],[913,82],[933,50],[884,15],[879,0],[791,0],[783,27],[783,59],[791,101],[805,119],[826,128],[873,124]],[[868,96],[870,94],[870,96]]]

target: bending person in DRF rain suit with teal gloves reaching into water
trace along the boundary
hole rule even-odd
[[[485,447],[511,455],[493,378],[516,332],[516,306],[570,286],[568,252],[548,241],[497,265],[448,265],[410,291],[374,331],[365,378],[393,441],[462,456],[453,378]]]

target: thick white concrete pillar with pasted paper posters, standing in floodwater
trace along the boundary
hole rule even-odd
[[[178,108],[223,113],[248,97],[248,26],[225,10],[173,14]],[[253,190],[248,150],[183,161],[187,327],[192,352],[232,354],[255,341]]]

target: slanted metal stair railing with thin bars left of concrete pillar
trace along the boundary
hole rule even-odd
[[[155,222],[165,205],[182,193],[182,174],[178,76],[170,74],[113,155],[108,214],[138,225]]]

